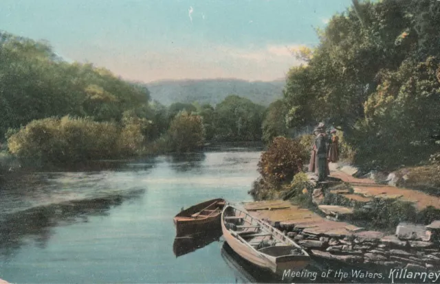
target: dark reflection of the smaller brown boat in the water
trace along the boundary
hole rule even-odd
[[[221,230],[213,230],[204,234],[190,235],[188,237],[175,237],[173,243],[173,252],[176,257],[181,257],[199,248],[208,246],[214,241],[219,241]]]

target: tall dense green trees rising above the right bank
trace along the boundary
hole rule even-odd
[[[333,16],[285,87],[294,128],[325,121],[368,168],[413,165],[438,152],[440,5],[365,1]]]

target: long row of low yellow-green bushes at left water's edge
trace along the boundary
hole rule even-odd
[[[88,118],[34,120],[8,139],[15,156],[41,163],[72,164],[140,154],[144,136],[139,121],[123,127]]]

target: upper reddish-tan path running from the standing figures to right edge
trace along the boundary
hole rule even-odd
[[[418,210],[423,210],[428,206],[440,209],[439,197],[430,196],[417,190],[380,185],[370,178],[355,178],[351,176],[350,169],[344,170],[344,167],[338,169],[338,164],[336,163],[330,163],[329,167],[331,177],[349,182],[353,187],[355,194],[338,193],[351,200],[369,202],[372,198],[393,198],[413,202]]]

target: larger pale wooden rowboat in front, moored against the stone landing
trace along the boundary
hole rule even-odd
[[[296,242],[244,209],[226,205],[221,214],[221,230],[234,252],[275,274],[299,271],[309,264],[309,254]]]

